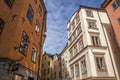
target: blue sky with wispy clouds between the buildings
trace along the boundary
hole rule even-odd
[[[98,8],[104,0],[44,0],[47,32],[43,51],[59,54],[67,44],[67,22],[80,5]]]

